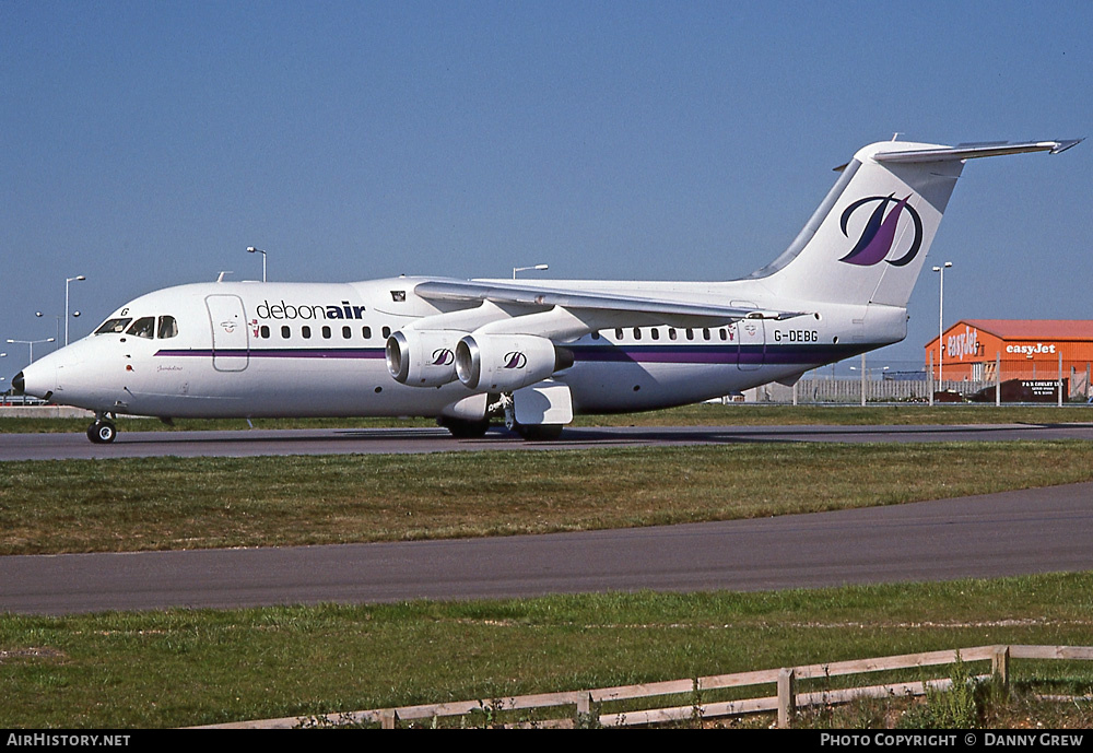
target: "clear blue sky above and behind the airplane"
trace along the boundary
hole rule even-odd
[[[1088,0],[0,0],[0,341],[52,337],[64,278],[74,338],[260,278],[247,246],[271,280],[747,275],[866,143],[1091,134],[1091,28]],[[1091,189],[1093,141],[969,163],[927,262],[947,326],[1093,317]],[[874,357],[921,358],[937,282]]]

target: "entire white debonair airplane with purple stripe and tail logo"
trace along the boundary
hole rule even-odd
[[[504,416],[528,439],[575,413],[700,402],[903,340],[907,302],[964,163],[1081,139],[860,149],[773,262],[725,282],[193,283],[136,298],[26,366],[16,393],[176,417]]]

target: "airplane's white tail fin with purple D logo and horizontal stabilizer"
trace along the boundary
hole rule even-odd
[[[835,168],[839,179],[789,248],[752,277],[802,301],[906,307],[964,161],[1058,154],[1079,141],[865,146]]]

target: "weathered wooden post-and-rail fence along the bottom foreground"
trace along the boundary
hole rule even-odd
[[[861,685],[838,690],[822,689],[806,693],[797,692],[797,683],[807,680],[830,680],[831,678],[920,669],[925,667],[951,666],[957,661],[990,662],[990,672],[974,675],[983,681],[997,679],[1003,685],[1010,681],[1011,659],[1055,659],[1093,661],[1091,646],[975,646],[925,654],[873,659],[836,661],[827,664],[808,664],[780,669],[718,674],[687,680],[600,687],[595,690],[541,693],[506,698],[461,701],[420,706],[400,706],[365,711],[350,711],[314,717],[284,717],[212,725],[219,729],[274,729],[299,727],[333,727],[340,725],[379,725],[384,729],[396,729],[400,723],[425,721],[436,723],[445,717],[477,717],[475,723],[501,726],[506,715],[516,715],[515,720],[505,726],[575,727],[575,726],[648,726],[680,720],[716,719],[756,713],[776,713],[779,727],[791,727],[797,710],[802,707],[842,704],[857,698],[924,695],[927,689],[944,690],[952,681],[949,676],[916,680],[882,685]],[[720,702],[708,702],[708,696],[717,691],[753,685],[774,685],[773,696],[759,696]],[[655,708],[640,708],[640,699],[682,696],[689,703]],[[625,709],[602,713],[602,707],[626,704]],[[564,709],[564,713],[563,713]],[[528,721],[520,719],[520,713],[545,713],[545,718]],[[539,714],[536,714],[539,716]]]

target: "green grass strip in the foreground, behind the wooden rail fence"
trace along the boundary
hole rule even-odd
[[[172,727],[997,643],[1084,645],[1091,595],[1086,573],[764,593],[5,615],[0,727]],[[1089,662],[1014,662],[1013,671],[1051,692],[1093,686]]]

